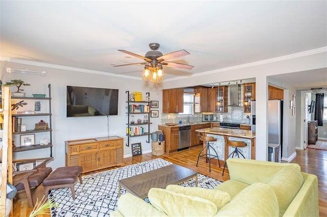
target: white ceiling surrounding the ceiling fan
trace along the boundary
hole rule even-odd
[[[141,77],[144,56],[157,42],[166,54],[191,55],[164,67],[165,79],[282,57],[327,46],[327,1],[1,1],[2,59]],[[48,65],[49,66],[49,65]],[[323,71],[324,70],[324,71]],[[312,84],[324,72],[303,72]],[[322,77],[312,79],[312,73]],[[290,81],[294,76],[275,79]],[[325,82],[327,83],[327,82]],[[327,86],[327,84],[324,84]],[[312,87],[312,86],[310,86]],[[327,88],[327,87],[325,87]]]

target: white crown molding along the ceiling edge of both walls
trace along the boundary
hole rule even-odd
[[[206,72],[200,72],[200,73],[192,74],[189,77],[203,76],[203,75],[213,74],[213,73],[217,73],[217,72],[224,72],[224,71],[230,71],[230,70],[247,68],[247,67],[258,66],[258,65],[264,65],[264,64],[269,64],[269,63],[275,63],[275,62],[279,62],[279,61],[285,61],[285,60],[291,60],[291,59],[295,59],[295,58],[315,55],[315,54],[323,53],[323,52],[327,52],[327,47],[320,47],[317,49],[293,53],[291,55],[286,55],[286,56],[282,56],[282,57],[276,57],[276,58],[271,58],[271,59],[267,59],[267,60],[246,63],[246,64],[242,64],[242,65],[237,65],[237,66],[230,66],[230,67],[215,69],[215,70],[206,71]],[[88,69],[69,67],[69,66],[61,66],[61,65],[48,64],[48,63],[40,63],[40,62],[34,62],[34,61],[29,61],[29,60],[20,60],[20,59],[15,59],[15,58],[0,57],[0,61],[11,62],[11,63],[20,63],[20,64],[26,64],[26,65],[32,65],[32,66],[47,67],[47,68],[54,68],[54,69],[62,69],[62,70],[68,70],[68,71],[90,73],[90,74],[100,74],[100,75],[106,75],[106,76],[114,76],[114,77],[123,77],[123,78],[135,79],[135,80],[142,80],[141,77],[114,74],[114,73],[110,73],[110,72],[88,70]],[[185,76],[169,78],[169,79],[165,79],[163,82],[170,82],[172,80],[179,80],[179,79],[184,79],[184,78],[185,78]]]

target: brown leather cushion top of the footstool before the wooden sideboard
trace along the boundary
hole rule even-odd
[[[80,166],[59,167],[44,179],[43,186],[74,183],[81,172]]]

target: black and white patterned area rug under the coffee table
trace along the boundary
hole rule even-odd
[[[116,209],[118,180],[171,164],[167,160],[157,158],[140,164],[82,176],[83,184],[81,185],[79,181],[75,183],[75,200],[72,199],[69,188],[51,190],[49,198],[53,197],[58,205],[58,208],[52,207],[51,216],[109,216],[109,213]],[[199,187],[212,189],[220,183],[216,179],[198,174]],[[195,178],[186,180],[180,185],[195,186]],[[121,194],[125,193],[125,189],[122,188]]]

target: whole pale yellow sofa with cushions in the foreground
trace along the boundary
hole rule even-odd
[[[230,180],[214,189],[151,188],[150,203],[122,195],[115,216],[319,216],[318,179],[297,164],[227,160]]]

